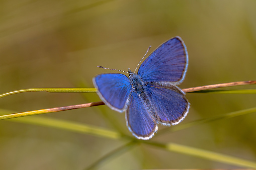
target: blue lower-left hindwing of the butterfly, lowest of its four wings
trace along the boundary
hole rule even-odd
[[[132,134],[138,139],[150,139],[157,130],[155,119],[137,93],[131,92],[130,102],[125,112],[126,124]]]

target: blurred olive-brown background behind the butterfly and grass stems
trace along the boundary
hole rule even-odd
[[[109,72],[97,65],[133,71],[148,46],[152,52],[174,36],[184,40],[189,53],[181,88],[255,80],[255,9],[253,0],[0,1],[0,93],[93,87],[95,75]],[[256,106],[255,94],[189,93],[187,98],[191,109],[182,123]],[[22,112],[93,101],[100,101],[96,93],[35,92],[1,98],[0,108]],[[124,114],[107,106],[43,116],[117,130],[104,115],[115,118],[120,129],[131,135]],[[156,133],[151,140],[255,161],[255,122],[252,113],[174,133]],[[159,131],[163,128],[159,125]],[[124,143],[5,120],[0,122],[0,168],[83,169]],[[237,166],[141,144],[99,169],[233,167]]]

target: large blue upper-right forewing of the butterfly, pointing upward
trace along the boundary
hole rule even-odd
[[[188,68],[187,48],[180,37],[161,44],[141,64],[138,75],[146,82],[180,84]],[[172,83],[170,83],[172,82]]]

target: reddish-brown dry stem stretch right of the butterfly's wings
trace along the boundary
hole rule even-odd
[[[221,87],[231,87],[231,86],[240,86],[240,85],[249,85],[249,84],[256,84],[256,81],[237,81],[237,82],[231,82],[231,83],[221,83],[221,84],[213,84],[213,85],[207,85],[207,86],[199,86],[199,87],[191,87],[182,89],[185,93],[188,92],[194,92],[194,91],[200,91],[200,90],[209,90],[209,89],[216,89]]]

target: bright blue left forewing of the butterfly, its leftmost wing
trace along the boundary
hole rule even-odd
[[[123,112],[128,104],[131,83],[123,74],[100,74],[93,79],[102,101],[113,110]]]

